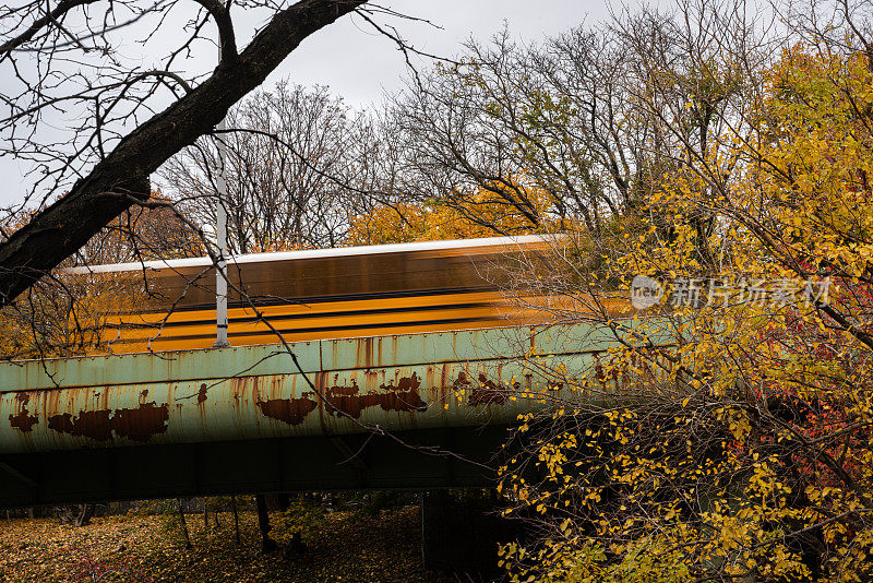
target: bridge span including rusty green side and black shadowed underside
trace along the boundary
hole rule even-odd
[[[486,485],[432,453],[492,465],[542,405],[517,394],[566,391],[548,370],[587,374],[614,341],[579,324],[3,364],[0,507]]]

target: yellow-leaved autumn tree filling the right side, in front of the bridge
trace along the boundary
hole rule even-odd
[[[611,340],[585,373],[528,359],[563,389],[525,395],[551,406],[501,468],[506,514],[535,533],[501,549],[514,581],[873,578],[873,52],[850,14],[748,69],[743,108],[705,140],[666,112],[675,84],[641,91],[679,144],[643,228],[600,248],[584,284],[541,285],[635,290],[645,309],[576,316]],[[649,73],[693,72],[695,112],[738,67],[726,52]]]

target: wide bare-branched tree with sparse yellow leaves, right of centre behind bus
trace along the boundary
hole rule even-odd
[[[509,31],[470,41],[462,64],[421,75],[395,103],[408,197],[476,221],[487,192],[523,228],[578,225],[595,239],[644,212],[653,178],[706,158],[745,121],[751,73],[769,56],[742,2],[679,13],[618,12],[539,45]]]

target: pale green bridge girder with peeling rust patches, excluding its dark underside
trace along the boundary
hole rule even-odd
[[[611,342],[591,325],[302,342],[302,372],[284,345],[3,364],[0,454],[511,424],[566,391],[550,370],[587,374]]]

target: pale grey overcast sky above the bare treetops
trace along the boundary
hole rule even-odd
[[[634,0],[630,0],[635,3]],[[618,3],[618,2],[617,2]],[[192,2],[192,10],[195,8]],[[553,36],[583,22],[594,24],[608,17],[607,3],[581,0],[396,0],[382,3],[396,12],[430,21],[433,25],[403,19],[380,17],[381,24],[395,25],[402,36],[417,49],[440,57],[453,57],[462,51],[469,38],[486,41],[504,25],[519,40],[536,41]],[[239,9],[238,9],[239,10]],[[166,22],[170,35],[178,35],[186,22]],[[169,20],[169,19],[168,19]],[[239,10],[234,14],[237,37],[241,45],[251,38],[254,29],[264,23],[249,17]],[[177,32],[174,32],[177,31]],[[142,61],[159,62],[166,55],[166,40],[142,45],[134,31],[122,33],[118,49],[139,53]],[[175,45],[178,36],[170,37]],[[240,47],[242,48],[242,47]],[[214,67],[217,50],[214,46],[200,46],[183,68],[206,72]],[[143,52],[144,51],[144,52]],[[150,55],[150,52],[155,55]],[[419,61],[418,64],[424,64]],[[385,92],[394,92],[403,84],[406,62],[403,53],[390,39],[379,34],[357,15],[346,16],[307,38],[286,61],[267,79],[270,87],[287,79],[303,85],[321,84],[342,96],[356,108],[382,100]],[[0,85],[9,80],[0,79]],[[63,126],[59,124],[59,126]],[[59,141],[62,130],[59,130]],[[26,168],[12,158],[0,158],[0,177],[5,188],[0,189],[0,205],[17,204],[28,190],[22,177]]]

